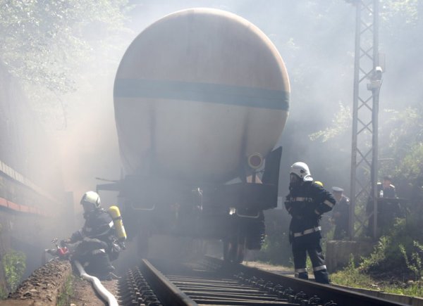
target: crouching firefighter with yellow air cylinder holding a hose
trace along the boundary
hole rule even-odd
[[[80,204],[84,209],[85,224],[62,243],[78,243],[72,259],[78,260],[87,274],[101,280],[113,279],[116,276],[112,273],[111,261],[118,258],[126,238],[120,212],[116,206],[112,206],[110,212],[104,210],[98,193],[94,191],[86,192]]]

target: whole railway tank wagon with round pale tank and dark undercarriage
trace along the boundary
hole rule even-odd
[[[264,238],[263,210],[277,205],[290,87],[268,37],[211,8],[171,13],[125,52],[114,84],[122,177],[116,184],[129,235],[221,238],[243,258]],[[264,160],[265,158],[265,160]]]

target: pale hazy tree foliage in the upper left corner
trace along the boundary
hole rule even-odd
[[[121,42],[127,2],[0,0],[0,60],[31,89],[30,100],[46,89],[75,91],[80,68],[98,72],[94,59]]]

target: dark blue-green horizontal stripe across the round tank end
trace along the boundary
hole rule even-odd
[[[117,98],[163,98],[288,110],[289,92],[224,84],[116,79]]]

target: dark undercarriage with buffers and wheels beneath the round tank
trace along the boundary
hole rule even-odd
[[[125,227],[130,236],[140,235],[141,253],[150,234],[216,238],[226,260],[242,262],[245,248],[262,247],[263,210],[277,206],[281,153],[279,147],[266,158],[262,179],[254,172],[233,184],[195,184],[128,175],[97,191],[119,192]]]

